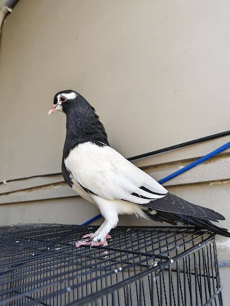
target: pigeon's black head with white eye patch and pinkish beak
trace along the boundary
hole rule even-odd
[[[87,101],[74,90],[63,90],[59,91],[54,96],[54,104],[49,111],[49,115],[56,111],[64,112],[65,114],[68,110],[76,108],[82,104],[87,104]]]

